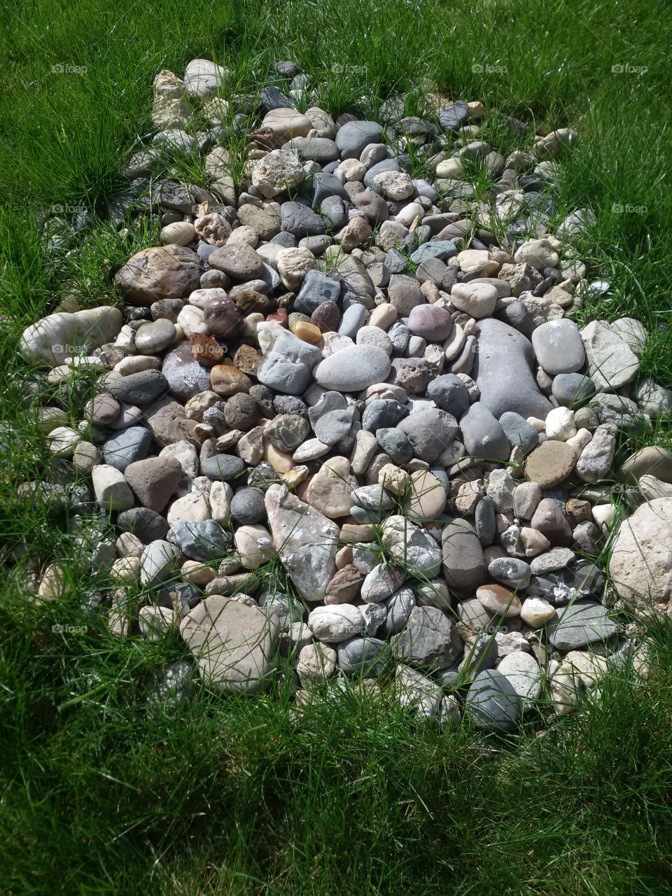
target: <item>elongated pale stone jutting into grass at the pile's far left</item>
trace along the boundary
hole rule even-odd
[[[111,342],[121,330],[122,314],[110,305],[70,314],[57,311],[23,331],[19,351],[33,364],[56,366],[79,351]]]

